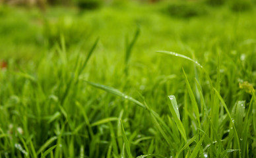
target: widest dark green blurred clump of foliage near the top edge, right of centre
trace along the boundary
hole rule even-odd
[[[167,5],[165,12],[177,18],[191,18],[207,13],[206,6],[201,2],[176,2]]]

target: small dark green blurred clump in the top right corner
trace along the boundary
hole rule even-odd
[[[253,7],[252,1],[249,0],[237,0],[230,2],[230,9],[234,12],[249,11]]]

